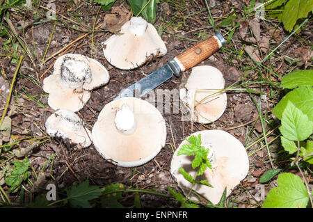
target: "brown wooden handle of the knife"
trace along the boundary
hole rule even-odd
[[[223,40],[221,42],[219,38],[214,35],[176,56],[174,60],[179,65],[180,70],[185,71],[193,68],[193,66],[214,54],[223,44],[225,44]]]

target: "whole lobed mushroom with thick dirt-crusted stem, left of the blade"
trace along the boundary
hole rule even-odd
[[[79,54],[65,54],[54,63],[54,73],[43,81],[49,93],[48,104],[54,109],[79,111],[90,99],[90,90],[107,84],[109,72],[104,66]]]

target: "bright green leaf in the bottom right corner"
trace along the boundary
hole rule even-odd
[[[304,208],[309,194],[300,177],[293,173],[278,175],[278,187],[268,192],[262,208]]]

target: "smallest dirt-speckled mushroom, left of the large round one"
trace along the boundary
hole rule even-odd
[[[83,127],[83,120],[72,111],[59,109],[47,118],[46,132],[49,136],[70,139],[70,143],[76,143],[83,148],[90,144],[91,132]]]

